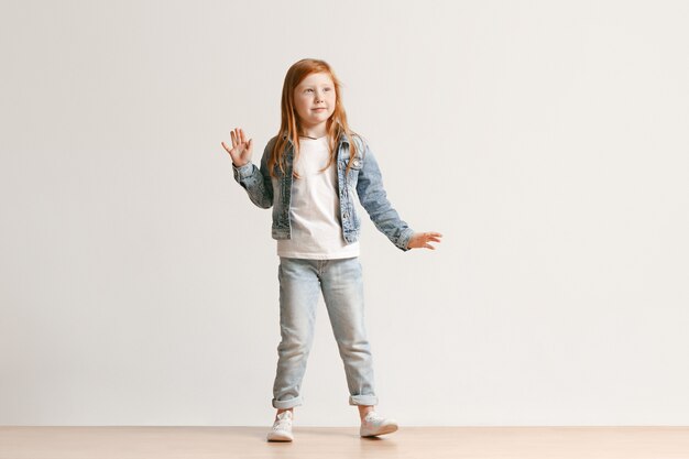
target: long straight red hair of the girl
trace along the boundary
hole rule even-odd
[[[269,171],[272,176],[275,176],[275,167],[285,173],[285,153],[287,142],[291,141],[294,145],[294,162],[299,157],[299,117],[294,108],[294,89],[310,74],[326,73],[332,79],[335,85],[335,111],[332,116],[326,122],[326,135],[328,138],[328,146],[330,151],[330,159],[328,164],[324,167],[324,171],[332,165],[336,161],[336,149],[340,135],[347,135],[349,140],[349,163],[347,164],[347,173],[352,165],[354,157],[357,156],[357,145],[353,142],[353,135],[357,135],[347,123],[347,113],[342,106],[341,83],[325,61],[306,58],[298,61],[289,67],[287,75],[285,75],[285,83],[282,88],[282,102],[281,112],[282,119],[280,122],[280,131],[277,132],[277,139],[273,146],[272,154],[267,160]],[[298,176],[295,177],[298,178]]]

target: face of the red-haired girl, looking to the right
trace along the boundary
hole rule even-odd
[[[294,88],[294,108],[304,128],[325,125],[335,102],[335,84],[327,73],[310,74]]]

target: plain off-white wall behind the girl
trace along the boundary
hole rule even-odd
[[[689,423],[682,1],[3,1],[0,424],[269,425],[259,156],[328,61],[389,195],[364,219],[380,409],[405,425]],[[354,425],[325,309],[300,425]]]

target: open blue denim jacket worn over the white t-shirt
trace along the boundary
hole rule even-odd
[[[359,136],[353,139],[359,147],[349,173],[346,173],[349,162],[349,140],[344,134],[340,136],[337,145],[336,165],[342,236],[348,243],[359,240],[361,219],[354,207],[357,196],[375,227],[398,249],[407,251],[414,230],[400,218],[387,200],[381,171],[369,145]],[[277,136],[274,136],[265,146],[260,170],[252,163],[240,167],[232,165],[232,170],[234,179],[247,190],[253,204],[263,209],[273,206],[273,239],[289,239],[294,144],[288,141],[286,146],[285,173],[276,167],[276,177],[271,177],[267,160],[276,140]]]

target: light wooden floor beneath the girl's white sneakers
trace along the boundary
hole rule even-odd
[[[364,439],[354,427],[0,427],[0,459],[689,459],[689,427],[402,427]]]

